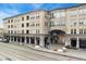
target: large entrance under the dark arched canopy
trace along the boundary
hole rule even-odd
[[[54,29],[50,31],[50,41],[52,44],[63,44],[63,38],[65,36],[65,31]]]

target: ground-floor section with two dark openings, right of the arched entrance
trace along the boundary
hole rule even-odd
[[[72,48],[86,49],[86,37],[85,35],[70,35],[66,38],[65,46]]]

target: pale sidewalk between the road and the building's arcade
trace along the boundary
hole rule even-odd
[[[79,49],[79,50],[66,49],[66,52],[58,52],[52,50],[53,47],[51,49],[46,49],[46,48],[35,48],[35,46],[33,44],[25,44],[25,46],[37,51],[63,55],[67,57],[75,57],[75,59],[86,61],[86,50],[83,50],[83,49]],[[57,49],[61,49],[61,48],[62,46],[57,47]]]

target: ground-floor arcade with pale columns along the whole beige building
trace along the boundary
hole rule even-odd
[[[4,38],[9,39],[10,42],[22,42],[22,43],[32,43],[41,47],[48,46],[48,35],[40,36],[4,36]],[[49,42],[51,44],[63,44],[64,47],[69,46],[71,48],[82,48],[86,49],[86,37],[81,35],[56,35],[50,36]]]

